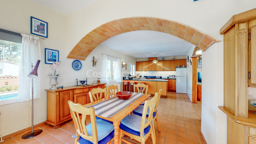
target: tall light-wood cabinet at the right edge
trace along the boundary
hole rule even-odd
[[[248,110],[248,87],[256,86],[256,8],[234,15],[224,34],[224,107],[228,143],[256,143],[256,115]]]

